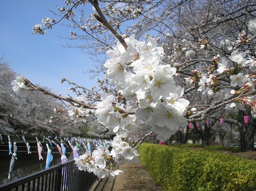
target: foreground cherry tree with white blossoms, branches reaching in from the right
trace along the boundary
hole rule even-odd
[[[82,89],[77,98],[51,93],[25,77],[16,77],[12,84],[20,96],[37,90],[60,99],[69,106],[70,120],[84,123],[95,118],[104,130],[116,135],[111,151],[100,146],[92,154],[80,156],[76,160],[80,170],[102,178],[116,176],[120,170],[113,168],[114,161],[120,165],[138,161],[135,145],[129,146],[125,140],[142,124],[151,128],[139,145],[152,133],[159,141],[166,141],[180,127],[189,123],[195,126],[196,122],[202,125],[208,118],[220,117],[224,109],[248,114],[248,108],[256,117],[253,1],[65,3],[67,6],[58,8],[59,20],[46,17],[43,26],[35,25],[33,33],[44,35],[47,28],[64,19],[70,27],[79,28],[70,31],[70,39],[85,41],[77,47],[108,56],[102,65],[106,78],[98,81],[101,91],[67,79],[61,82],[75,85],[75,92]],[[93,7],[87,17],[86,6]],[[133,24],[127,26],[131,21]],[[206,132],[203,125],[199,130]],[[254,130],[245,133],[243,140],[251,143],[253,139],[248,137]],[[202,139],[207,139],[203,135]],[[252,149],[252,145],[242,149]]]

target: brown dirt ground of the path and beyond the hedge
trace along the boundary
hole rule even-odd
[[[195,148],[196,150],[200,150]],[[248,159],[256,159],[256,151],[232,153],[231,151],[216,151],[223,154],[235,155],[239,157],[246,157]],[[154,183],[154,180],[149,176],[143,166],[139,164],[124,164],[119,166],[119,169],[124,171],[117,176],[113,188],[113,180],[108,180],[103,191],[161,191],[159,185]]]

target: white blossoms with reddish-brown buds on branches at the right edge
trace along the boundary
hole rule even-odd
[[[245,58],[247,57],[247,58]],[[238,90],[231,90],[231,95],[239,96],[242,93],[248,93],[254,91],[255,84],[255,70],[256,61],[255,58],[249,58],[246,52],[233,51],[229,56],[229,60],[220,58],[220,55],[215,56],[212,59],[213,66],[209,66],[209,74],[201,74],[198,70],[192,70],[193,77],[185,78],[187,84],[198,86],[198,91],[205,94],[207,92],[209,97],[214,97],[217,90],[219,90],[220,83],[217,76],[221,77],[228,74],[230,85]],[[232,64],[231,64],[232,63]],[[234,68],[230,66],[234,65]],[[244,69],[250,69],[253,74],[244,74]],[[212,74],[216,70],[216,74]],[[226,109],[240,109],[245,111],[245,107],[249,106],[252,108],[252,115],[256,117],[256,97],[255,96],[244,96],[235,99],[235,102],[226,105]]]

